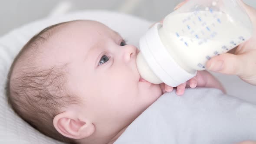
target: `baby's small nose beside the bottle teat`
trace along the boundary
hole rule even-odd
[[[133,45],[127,45],[124,47],[124,61],[129,62],[132,58],[135,58],[138,54],[138,49]]]

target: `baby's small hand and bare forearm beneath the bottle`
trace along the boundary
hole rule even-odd
[[[164,83],[160,84],[160,87],[163,93],[171,92],[173,90],[173,87],[168,86]],[[178,85],[176,94],[183,95],[186,87],[187,88],[195,88],[195,87],[217,88],[222,90],[225,93],[225,89],[223,88],[221,83],[207,71],[198,71],[197,75],[194,78],[188,80],[187,82],[181,85]]]

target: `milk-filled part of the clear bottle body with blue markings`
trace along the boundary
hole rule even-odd
[[[170,55],[187,71],[204,70],[207,60],[233,49],[251,35],[250,29],[230,20],[228,14],[215,11],[171,13],[159,29]]]

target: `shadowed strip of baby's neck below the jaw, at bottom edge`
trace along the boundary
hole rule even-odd
[[[91,137],[89,139],[85,138],[85,139],[80,139],[77,140],[77,144],[113,144],[118,137],[121,136],[121,134],[123,134],[123,132],[126,130],[128,126],[126,126],[125,128],[122,128],[120,131],[118,131],[115,134],[112,134],[110,136],[107,137]]]

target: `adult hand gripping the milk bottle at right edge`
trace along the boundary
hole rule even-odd
[[[254,27],[252,38],[230,53],[213,57],[207,62],[206,68],[213,72],[238,75],[243,81],[256,85],[256,9],[242,1],[240,3],[252,21]]]

